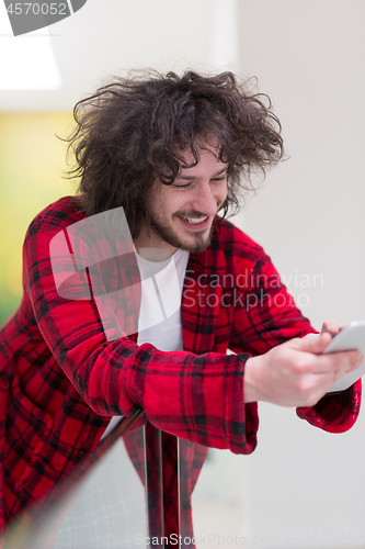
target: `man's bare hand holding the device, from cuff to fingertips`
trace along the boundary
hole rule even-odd
[[[321,334],[295,338],[264,355],[249,358],[244,369],[244,402],[265,401],[281,406],[313,406],[339,378],[361,365],[358,350],[321,355],[335,323],[324,323]]]

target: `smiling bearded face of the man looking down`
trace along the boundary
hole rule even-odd
[[[216,148],[206,146],[199,150],[198,164],[181,168],[171,184],[155,182],[149,200],[150,246],[193,254],[207,248],[214,216],[227,197],[228,165],[217,156]],[[183,157],[193,164],[190,149]]]

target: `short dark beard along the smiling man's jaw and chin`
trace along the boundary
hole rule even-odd
[[[191,213],[189,215],[191,215]],[[202,214],[199,214],[198,212],[194,212],[194,215],[199,216]],[[192,236],[194,238],[193,243],[184,240],[183,237],[180,237],[180,235],[176,234],[172,226],[170,226],[168,223],[156,220],[156,217],[153,216],[151,216],[150,219],[150,226],[155,234],[157,234],[162,240],[167,242],[174,248],[183,249],[185,251],[189,251],[190,254],[199,254],[201,251],[205,251],[206,248],[210,246],[213,223],[209,227],[208,234],[207,229],[192,233]]]

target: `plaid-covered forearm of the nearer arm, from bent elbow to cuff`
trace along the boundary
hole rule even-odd
[[[142,407],[155,426],[197,444],[250,453],[255,447],[256,405],[243,405],[246,355],[162,352],[123,338],[81,358],[70,352],[62,369],[99,414],[129,415]]]

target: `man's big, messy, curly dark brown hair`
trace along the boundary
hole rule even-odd
[[[77,194],[84,213],[123,206],[136,238],[149,225],[148,190],[156,178],[171,184],[186,167],[181,152],[191,147],[195,166],[202,143],[212,137],[219,143],[219,160],[228,164],[223,216],[236,212],[241,190],[252,188],[252,173],[264,176],[284,154],[270,98],[248,88],[231,72],[148,71],[115,77],[79,101],[78,125],[66,141],[76,157],[69,177],[81,177]]]

